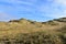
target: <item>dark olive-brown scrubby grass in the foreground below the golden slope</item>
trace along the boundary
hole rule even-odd
[[[48,32],[16,33],[16,35],[6,35],[0,38],[4,44],[63,44],[57,34]]]

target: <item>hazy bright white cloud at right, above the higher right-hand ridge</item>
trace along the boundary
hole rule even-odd
[[[52,1],[52,0],[48,0]],[[51,4],[38,7],[38,11],[43,12],[43,16],[63,18],[66,16],[66,0],[54,0]],[[61,8],[61,9],[59,9]]]

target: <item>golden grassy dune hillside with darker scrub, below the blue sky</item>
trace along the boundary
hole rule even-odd
[[[0,44],[66,44],[66,18],[0,22]]]

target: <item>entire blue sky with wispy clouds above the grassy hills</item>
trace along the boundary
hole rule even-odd
[[[0,21],[47,21],[66,16],[66,0],[0,0]]]

